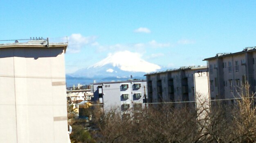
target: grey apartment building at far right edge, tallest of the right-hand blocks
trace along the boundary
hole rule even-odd
[[[211,99],[239,97],[241,87],[246,81],[250,85],[250,91],[254,92],[255,60],[256,47],[248,47],[236,53],[218,53],[214,57],[205,58],[209,69]]]

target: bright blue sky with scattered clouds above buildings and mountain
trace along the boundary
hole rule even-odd
[[[254,0],[0,0],[0,40],[67,37],[67,74],[124,51],[162,68],[206,65],[217,53],[256,46],[255,7]]]

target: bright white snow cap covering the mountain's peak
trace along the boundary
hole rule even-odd
[[[159,65],[149,63],[141,59],[139,53],[130,52],[130,51],[121,51],[115,52],[114,54],[108,54],[107,58],[99,61],[94,64],[92,67],[103,67],[104,65],[111,64],[113,67],[118,67],[123,71],[128,72],[155,72],[157,69],[160,69]],[[113,70],[113,69],[112,69]],[[108,69],[107,72],[111,72],[111,69]],[[112,71],[113,72],[113,71]]]

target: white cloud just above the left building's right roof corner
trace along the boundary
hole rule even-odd
[[[68,52],[72,52],[72,53],[77,53],[80,52],[81,48],[85,45],[88,44],[96,44],[94,42],[94,40],[96,39],[95,36],[90,36],[90,37],[83,37],[83,35],[81,34],[72,34],[71,36],[69,36],[68,38],[68,48],[67,51]]]

